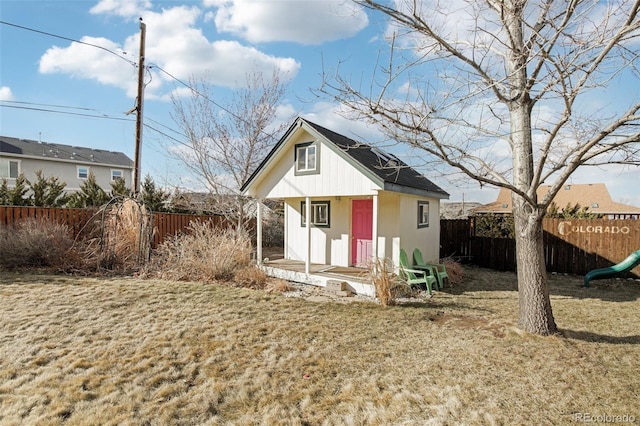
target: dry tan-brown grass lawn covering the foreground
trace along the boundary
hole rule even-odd
[[[0,273],[0,424],[640,422],[637,281],[551,277],[544,338],[515,327],[514,274],[466,274],[382,308]]]

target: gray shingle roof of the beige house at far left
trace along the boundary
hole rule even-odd
[[[39,157],[52,161],[67,160],[133,167],[133,161],[122,152],[38,142],[8,136],[0,136],[0,152],[3,154]]]

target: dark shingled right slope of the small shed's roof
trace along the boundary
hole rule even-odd
[[[449,195],[445,190],[409,167],[396,156],[376,147],[356,142],[309,120],[303,120],[352,159],[381,178],[385,182],[385,186],[387,186],[386,184],[390,186],[397,185],[444,196]]]

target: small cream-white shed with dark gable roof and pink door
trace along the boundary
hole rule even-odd
[[[364,266],[375,255],[397,265],[400,248],[439,258],[449,194],[397,157],[303,118],[241,190],[284,201],[284,257],[303,261],[307,274],[311,263]]]

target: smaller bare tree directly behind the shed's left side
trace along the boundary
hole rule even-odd
[[[214,101],[203,80],[192,79],[190,86],[190,96],[172,98],[173,119],[189,140],[175,156],[206,184],[215,200],[209,208],[243,227],[249,215],[240,186],[291,121],[276,123],[287,85],[276,71],[266,78],[261,72],[248,74],[246,85],[228,102]]]

